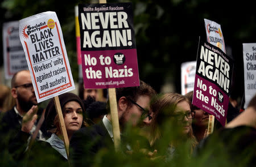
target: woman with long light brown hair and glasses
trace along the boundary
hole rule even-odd
[[[158,144],[162,144],[164,139],[168,143],[167,160],[175,155],[181,141],[189,144],[189,153],[192,153],[197,141],[191,126],[194,114],[188,99],[178,93],[167,93],[156,100],[151,109],[155,116],[151,123],[150,144],[158,149]]]

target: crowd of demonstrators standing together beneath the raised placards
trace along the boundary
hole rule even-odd
[[[193,91],[185,96],[179,93],[156,96],[156,91],[143,81],[138,87],[115,90],[121,155],[133,157],[139,151],[147,160],[168,163],[184,156],[197,160],[211,150],[211,160],[218,160],[225,153],[230,164],[255,164],[256,95],[242,113],[235,106],[232,108],[230,102],[228,124],[220,127],[219,123],[213,134],[205,137],[209,114],[191,104]],[[97,101],[97,95],[86,94],[83,99],[73,93],[59,95],[70,142],[68,157],[54,100],[48,102],[46,109],[38,109],[30,71],[14,74],[11,89],[5,92],[1,94],[2,101],[10,101],[9,92],[15,105],[1,113],[0,145],[14,161],[36,159],[39,163],[47,155],[53,164],[90,166],[102,150],[110,154],[115,150],[109,103]],[[134,136],[130,130],[136,129],[139,131]],[[220,150],[222,153],[218,154]],[[247,158],[240,162],[240,155]],[[26,164],[35,166],[30,162]]]

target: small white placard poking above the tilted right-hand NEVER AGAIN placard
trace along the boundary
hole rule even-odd
[[[205,31],[207,33],[207,41],[220,48],[226,53],[224,37],[221,31],[221,25],[208,19],[204,19]]]

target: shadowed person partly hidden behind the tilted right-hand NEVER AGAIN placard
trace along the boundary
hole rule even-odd
[[[195,118],[192,122],[192,128],[197,141],[200,142],[200,140],[204,139],[207,134],[209,113],[205,112],[200,108],[197,108],[197,106],[195,105],[192,105],[193,91],[188,92],[185,96],[190,101],[189,104],[191,110],[195,112]]]

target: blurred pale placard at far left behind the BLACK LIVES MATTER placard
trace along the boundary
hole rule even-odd
[[[20,70],[27,70],[27,61],[19,40],[19,21],[3,23],[3,60],[5,78],[11,79]]]

